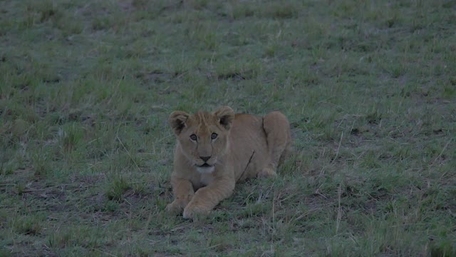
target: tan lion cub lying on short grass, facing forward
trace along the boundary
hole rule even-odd
[[[184,218],[207,214],[232,195],[238,181],[276,176],[291,146],[288,119],[234,114],[228,106],[209,112],[174,111],[168,119],[177,137],[171,175],[175,200],[166,211]]]

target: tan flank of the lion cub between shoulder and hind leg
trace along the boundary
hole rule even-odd
[[[256,176],[257,171],[263,168],[264,163],[269,162],[263,117],[236,114],[230,138],[234,172],[237,178],[239,179],[240,176],[242,179]]]

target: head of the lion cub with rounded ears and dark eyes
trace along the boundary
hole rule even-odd
[[[213,113],[190,115],[173,111],[168,121],[184,156],[199,172],[211,173],[217,159],[222,158],[229,148],[228,136],[233,119],[234,111],[223,106]]]

